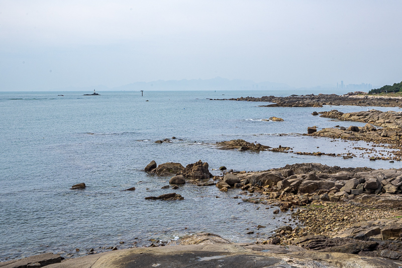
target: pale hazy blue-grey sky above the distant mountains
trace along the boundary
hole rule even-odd
[[[402,80],[402,1],[0,1],[0,91]]]

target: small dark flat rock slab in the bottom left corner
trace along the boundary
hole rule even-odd
[[[43,253],[39,255],[30,256],[18,260],[10,260],[6,262],[0,262],[0,267],[2,268],[26,268],[29,267],[31,263],[39,263],[33,267],[43,267],[52,263],[58,263],[61,261],[61,256],[59,254],[53,253]]]

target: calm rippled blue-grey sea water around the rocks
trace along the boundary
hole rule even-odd
[[[90,248],[99,251],[99,246],[149,245],[150,238],[171,240],[200,231],[234,242],[255,241],[255,235],[245,234],[246,228],[265,225],[260,237],[266,237],[286,220],[285,214],[272,219],[272,209],[257,210],[265,206],[233,199],[238,190],[221,193],[214,186],[186,184],[175,191],[183,201],[145,200],[173,192],[161,189],[170,177],[141,171],[151,160],[185,166],[201,159],[209,163],[213,174],[219,172],[211,169],[222,165],[247,171],[302,162],[374,168],[399,165],[356,157],[224,151],[213,145],[244,139],[325,153],[352,152],[355,146],[366,146],[366,142],[352,145],[297,133],[306,133],[307,127],[314,125],[362,126],[311,113],[363,111],[367,107],[267,108],[258,107],[265,103],[209,100],[311,93],[334,92],[144,92],[144,97],[140,92],[99,92],[100,96],[0,93],[0,261],[41,252],[79,256]],[[261,121],[271,116],[284,122]],[[154,143],[172,136],[177,139],[171,143]],[[87,188],[69,190],[77,183],[85,183]],[[130,187],[136,190],[121,192]],[[125,243],[120,245],[120,241]],[[75,248],[81,250],[75,252]]]

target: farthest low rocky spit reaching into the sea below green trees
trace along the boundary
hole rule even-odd
[[[230,101],[247,101],[247,102],[271,102],[272,105],[263,107],[323,107],[323,105],[353,105],[353,106],[380,106],[380,107],[401,107],[402,100],[400,98],[370,98],[369,96],[348,96],[336,94],[319,94],[319,95],[291,95],[289,97],[264,96],[261,98],[246,97],[236,99],[224,99]]]

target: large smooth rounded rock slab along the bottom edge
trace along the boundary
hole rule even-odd
[[[270,253],[278,252],[278,253]],[[286,252],[287,251],[287,252]],[[280,253],[279,253],[280,252]],[[376,257],[338,252],[286,249],[279,245],[253,247],[240,244],[180,245],[115,250],[69,259],[49,268],[141,267],[288,267],[288,268],[397,268],[401,264]]]

